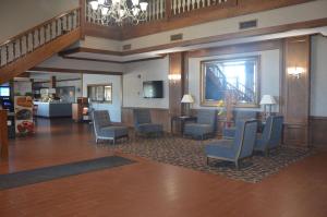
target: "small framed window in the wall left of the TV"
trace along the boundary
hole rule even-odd
[[[112,84],[88,85],[87,97],[90,101],[111,104]]]

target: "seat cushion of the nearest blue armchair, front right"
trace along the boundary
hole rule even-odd
[[[232,144],[233,141],[220,140],[206,145],[205,153],[210,157],[235,159],[237,153],[234,152]]]

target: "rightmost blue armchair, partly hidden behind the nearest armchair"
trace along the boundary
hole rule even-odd
[[[264,132],[256,140],[254,149],[264,152],[267,156],[269,149],[277,147],[281,141],[282,123],[282,116],[268,117],[264,128]]]

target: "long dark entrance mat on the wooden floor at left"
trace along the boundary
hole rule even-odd
[[[24,186],[27,184],[50,181],[53,179],[130,165],[133,162],[135,161],[128,158],[110,156],[70,162],[66,165],[58,165],[52,167],[44,167],[33,170],[0,174],[0,190]]]

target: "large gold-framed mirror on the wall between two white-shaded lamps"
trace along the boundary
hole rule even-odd
[[[202,106],[217,106],[233,96],[238,107],[257,107],[259,57],[218,59],[201,63]]]

